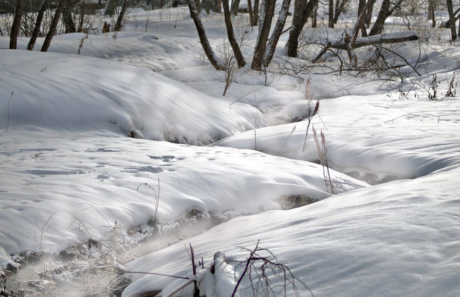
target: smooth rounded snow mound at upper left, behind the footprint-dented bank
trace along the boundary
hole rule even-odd
[[[207,144],[267,125],[247,104],[230,108],[142,68],[57,53],[4,50],[2,56],[0,118],[10,131],[134,131],[151,140]]]

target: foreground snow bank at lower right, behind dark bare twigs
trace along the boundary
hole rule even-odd
[[[458,176],[457,168],[289,211],[238,217],[129,267],[191,276],[189,243],[195,259],[203,257],[209,265],[216,251],[243,261],[248,251],[239,247],[252,249],[261,240],[260,246],[270,249],[315,296],[456,296],[460,294]],[[132,278],[123,296],[162,289],[174,281],[137,273]],[[202,288],[213,285],[204,281]],[[247,287],[247,280],[241,287]],[[301,296],[309,295],[298,288]],[[252,296],[251,292],[239,291],[241,296]]]

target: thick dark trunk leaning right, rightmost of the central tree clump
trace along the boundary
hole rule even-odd
[[[296,0],[294,3],[294,15],[292,17],[292,26],[289,31],[289,39],[287,41],[287,54],[290,57],[297,57],[297,49],[299,47],[299,36],[302,32],[303,26],[307,21],[310,13],[313,11],[314,6],[318,0]]]

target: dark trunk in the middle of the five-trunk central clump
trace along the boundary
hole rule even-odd
[[[276,0],[262,0],[261,2],[259,10],[259,36],[257,36],[257,41],[255,43],[251,65],[251,68],[254,70],[262,70],[264,53],[267,46],[268,34],[270,33],[275,4]]]

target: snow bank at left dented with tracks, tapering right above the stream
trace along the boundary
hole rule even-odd
[[[11,261],[10,254],[39,247],[56,252],[87,240],[71,226],[72,217],[83,222],[95,239],[107,228],[104,217],[136,231],[155,215],[155,194],[137,187],[149,183],[156,189],[158,179],[160,223],[174,223],[194,209],[224,215],[229,210],[259,213],[279,209],[272,200],[281,195],[317,199],[332,195],[326,191],[322,167],[316,164],[250,150],[127,137],[2,131],[0,160],[0,220],[9,226],[0,230],[3,264]],[[341,192],[366,186],[344,174],[332,174],[344,183]],[[40,242],[37,224],[43,226],[54,212],[46,240]]]

